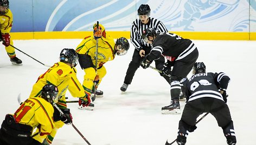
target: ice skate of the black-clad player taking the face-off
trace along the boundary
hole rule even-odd
[[[171,104],[169,106],[162,107],[162,114],[180,114],[181,107],[180,102],[176,99],[171,100]]]

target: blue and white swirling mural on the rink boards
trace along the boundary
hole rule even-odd
[[[9,1],[12,32],[91,31],[97,21],[108,31],[130,31],[140,4],[169,31],[256,31],[256,0]]]

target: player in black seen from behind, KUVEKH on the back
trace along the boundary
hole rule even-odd
[[[177,143],[184,145],[188,132],[196,129],[196,118],[203,113],[210,113],[223,129],[227,144],[235,145],[233,121],[226,104],[226,89],[230,78],[225,73],[206,73],[203,62],[195,63],[193,73],[187,84],[187,104],[178,124]]]

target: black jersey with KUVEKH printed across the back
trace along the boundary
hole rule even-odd
[[[213,97],[223,101],[219,89],[221,80],[224,78],[230,80],[225,73],[202,73],[193,75],[187,83],[187,100],[193,101],[197,98]]]

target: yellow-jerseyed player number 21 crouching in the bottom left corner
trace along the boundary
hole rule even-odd
[[[0,144],[42,144],[54,128],[53,104],[58,101],[58,89],[46,84],[38,97],[28,98],[14,115],[7,114],[0,129]],[[33,134],[37,128],[40,131]]]

